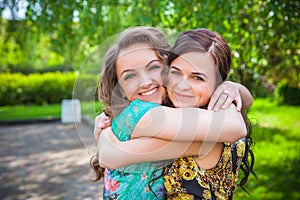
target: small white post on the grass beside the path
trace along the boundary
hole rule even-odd
[[[81,108],[78,99],[64,99],[62,101],[61,122],[81,122]]]

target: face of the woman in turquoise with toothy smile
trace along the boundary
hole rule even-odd
[[[129,101],[161,104],[165,94],[163,64],[150,46],[134,44],[123,49],[116,61],[116,72],[123,93]]]

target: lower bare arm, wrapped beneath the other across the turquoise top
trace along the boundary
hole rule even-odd
[[[205,148],[211,149],[213,145],[206,145]],[[98,143],[99,163],[103,167],[116,169],[134,163],[199,155],[203,152],[201,147],[200,142],[174,142],[145,137],[121,142],[111,128],[107,128],[101,133]]]

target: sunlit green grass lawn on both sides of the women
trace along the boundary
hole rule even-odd
[[[59,118],[60,105],[0,107],[0,121]],[[92,119],[99,104],[83,102],[83,114]],[[235,199],[300,199],[300,106],[277,106],[256,99],[248,117],[254,124],[254,170],[246,192],[238,188]]]

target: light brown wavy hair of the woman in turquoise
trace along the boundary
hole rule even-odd
[[[122,32],[116,44],[111,46],[104,57],[98,83],[98,99],[104,103],[103,111],[110,118],[118,115],[129,104],[118,84],[116,61],[121,50],[134,44],[149,45],[162,63],[165,65],[167,63],[170,45],[160,30],[153,27],[135,27]],[[163,77],[165,77],[166,72],[167,68],[163,70]],[[104,168],[99,165],[98,152],[90,159],[90,166],[96,174],[92,181],[100,180],[104,176]]]

